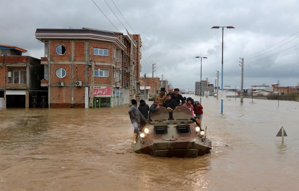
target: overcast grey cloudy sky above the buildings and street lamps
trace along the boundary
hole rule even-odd
[[[244,87],[278,80],[299,83],[298,0],[0,0],[0,44],[44,56],[37,28],[90,27],[142,38],[142,71],[167,79],[173,87],[194,90],[195,81],[215,83],[224,28],[223,84]],[[109,6],[108,6],[109,5]],[[112,10],[111,10],[112,9]],[[104,13],[104,14],[103,14]]]

